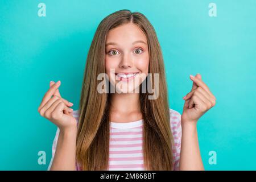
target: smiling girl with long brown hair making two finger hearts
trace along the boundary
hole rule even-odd
[[[101,73],[108,92],[101,90]],[[193,86],[180,115],[168,106],[154,27],[138,12],[108,15],[88,52],[79,110],[60,96],[60,81],[50,83],[38,108],[57,126],[48,169],[203,170],[196,123],[216,98],[201,75],[190,78]],[[156,97],[150,98],[149,89],[142,92],[144,83]]]

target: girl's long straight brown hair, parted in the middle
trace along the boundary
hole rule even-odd
[[[146,170],[172,170],[170,110],[162,51],[154,27],[146,16],[120,10],[104,18],[97,27],[86,59],[79,104],[76,159],[82,170],[106,170],[109,165],[110,93],[98,93],[97,76],[105,73],[106,35],[125,23],[136,24],[147,37],[148,73],[159,74],[159,96],[148,100],[149,93],[139,93],[143,116],[143,156]],[[149,84],[154,88],[154,77]],[[141,88],[141,85],[140,85]],[[140,89],[141,90],[141,89]]]

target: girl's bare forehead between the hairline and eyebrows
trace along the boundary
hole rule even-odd
[[[143,40],[147,43],[147,38],[144,32],[134,23],[122,24],[108,32],[106,36],[106,44],[109,42],[115,43],[133,43],[137,40]]]

